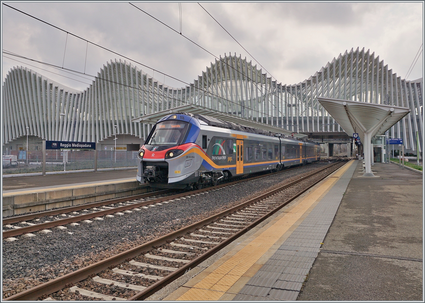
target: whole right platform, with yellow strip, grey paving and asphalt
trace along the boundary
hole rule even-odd
[[[422,300],[422,176],[361,169],[351,160],[148,300]]]

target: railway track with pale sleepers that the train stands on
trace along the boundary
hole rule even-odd
[[[334,160],[334,159],[331,159]],[[322,160],[320,162],[326,162]],[[320,163],[319,162],[319,163]],[[313,166],[312,163],[306,166]],[[226,182],[216,186],[202,188],[195,191],[176,191],[172,189],[154,191],[147,194],[129,196],[118,199],[105,200],[101,202],[76,205],[55,210],[48,210],[38,213],[30,213],[23,216],[13,216],[3,219],[2,238],[8,241],[15,241],[16,236],[26,235],[28,237],[35,236],[35,232],[49,233],[51,228],[67,229],[64,225],[72,224],[74,226],[84,223],[91,223],[91,220],[104,220],[113,216],[122,216],[125,213],[140,211],[143,208],[154,207],[157,203],[168,203],[173,199],[188,199],[190,196],[198,195],[204,191],[215,190],[229,185],[235,185],[240,182],[255,180],[268,177],[274,174],[281,174],[286,171],[299,169],[300,167],[289,168],[283,171],[272,172],[269,174],[260,174],[254,177],[242,177],[238,180]],[[78,223],[79,222],[79,223]]]

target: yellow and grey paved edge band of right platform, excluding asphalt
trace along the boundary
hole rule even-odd
[[[236,240],[241,243],[232,243],[233,248],[220,252],[210,266],[193,269],[193,278],[181,277],[182,287],[162,292],[164,300],[295,300],[354,173],[354,163],[285,206],[247,238]]]

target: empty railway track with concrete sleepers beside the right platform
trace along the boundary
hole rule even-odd
[[[53,293],[60,293],[62,300],[144,300],[345,163],[332,163],[235,207],[4,300],[43,300]]]

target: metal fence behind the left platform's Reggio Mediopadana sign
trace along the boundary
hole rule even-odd
[[[138,151],[84,151],[46,150],[46,172],[94,169],[94,153],[97,152],[97,168],[132,167],[138,164]],[[9,151],[3,153],[3,174],[42,172],[42,151]]]

